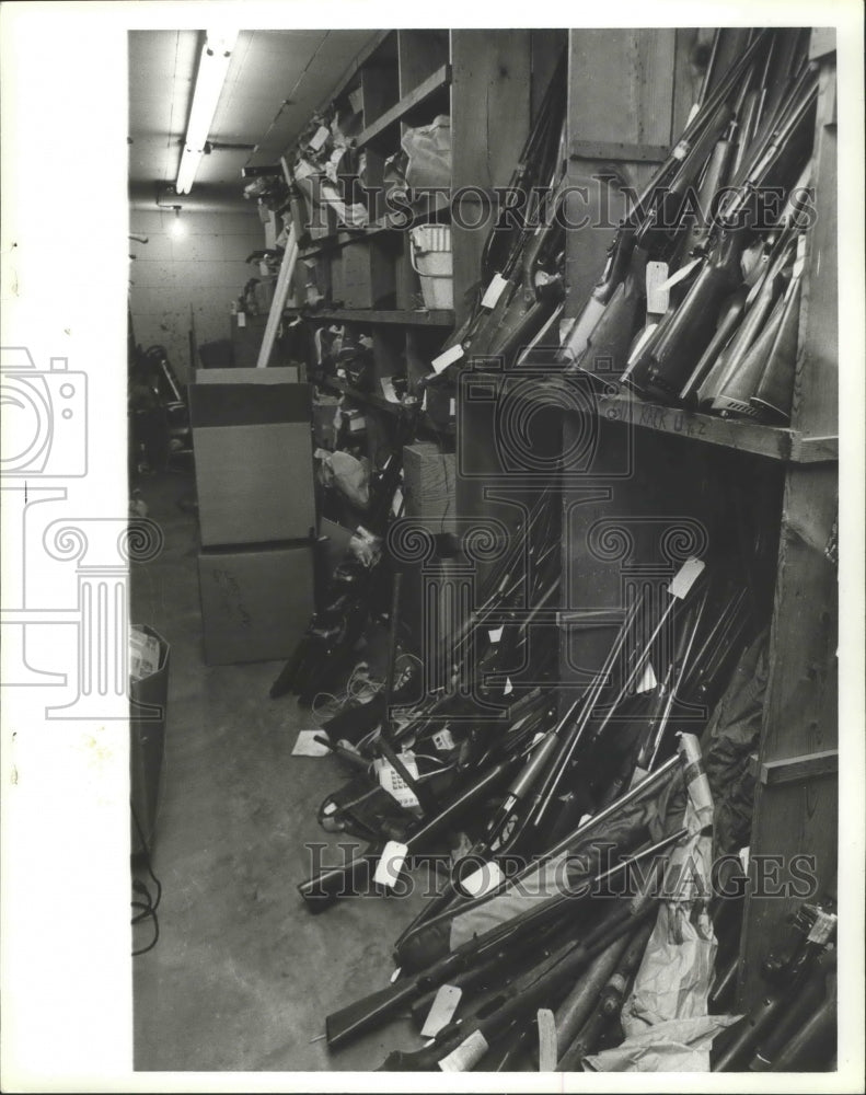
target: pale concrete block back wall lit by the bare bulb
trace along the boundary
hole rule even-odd
[[[257,212],[186,212],[182,237],[170,232],[175,217],[161,209],[132,209],[129,231],[148,243],[129,241],[129,299],[136,342],[143,349],[164,346],[178,379],[189,373],[189,328],[195,318],[198,345],[231,337],[230,306],[257,269],[245,260],[265,244]],[[195,362],[195,368],[199,362]]]

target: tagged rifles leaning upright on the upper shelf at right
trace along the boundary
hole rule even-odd
[[[789,420],[817,95],[808,32],[751,34],[620,226],[566,368]]]

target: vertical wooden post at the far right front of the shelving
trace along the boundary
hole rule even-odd
[[[835,55],[824,55],[820,62],[812,155],[816,218],[808,241],[792,414],[792,427],[804,437],[838,431]],[[834,462],[788,469],[759,776],[765,764],[838,746],[838,584],[835,565],[825,554],[836,518],[838,489]],[[789,891],[792,857],[813,857],[819,887],[836,869],[838,800],[833,772],[778,784],[764,784],[759,777],[752,855],[773,858],[752,868],[753,881],[762,878],[769,892],[747,895],[738,984],[743,1010],[762,989],[761,963],[778,938],[785,918],[804,900]],[[800,865],[801,871],[804,866],[811,869],[807,863]],[[780,892],[774,895],[774,890]]]

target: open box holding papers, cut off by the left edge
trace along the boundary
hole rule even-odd
[[[135,818],[130,819],[134,855],[150,850],[157,827],[171,654],[169,644],[159,632],[147,626],[137,630],[159,645],[159,658],[153,672],[129,682],[129,796],[135,810]]]

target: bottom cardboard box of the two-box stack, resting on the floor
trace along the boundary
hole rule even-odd
[[[288,658],[313,612],[313,546],[256,545],[199,552],[205,661]]]

